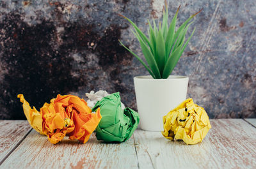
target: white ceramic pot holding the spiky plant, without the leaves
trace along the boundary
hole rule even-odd
[[[147,131],[163,131],[163,116],[186,99],[188,77],[134,77],[134,87],[140,115],[139,127]]]

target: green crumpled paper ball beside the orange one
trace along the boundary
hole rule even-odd
[[[92,111],[95,112],[99,107],[102,119],[96,128],[97,140],[124,142],[138,128],[139,114],[131,108],[122,110],[119,92],[102,98]]]

